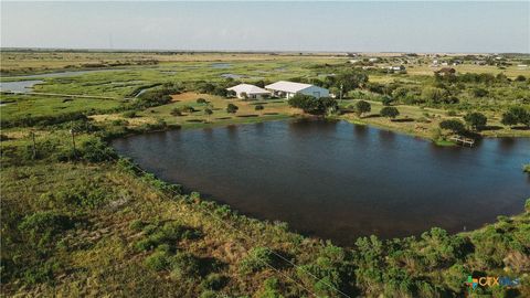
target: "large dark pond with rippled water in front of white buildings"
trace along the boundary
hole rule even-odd
[[[360,235],[479,227],[530,196],[530,139],[475,148],[338,121],[148,134],[114,147],[144,169],[258,219],[350,245]]]

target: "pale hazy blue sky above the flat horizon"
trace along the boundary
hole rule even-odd
[[[0,3],[2,47],[530,52],[530,1]]]

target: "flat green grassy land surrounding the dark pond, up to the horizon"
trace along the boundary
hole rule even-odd
[[[370,64],[374,56],[381,61]],[[1,295],[457,297],[467,292],[467,276],[481,273],[520,278],[521,286],[477,294],[529,296],[530,202],[520,215],[499,216],[468,233],[433,227],[418,237],[373,235],[339,247],[184,192],[108,147],[132,134],[305,116],[285,99],[226,96],[225,88],[240,82],[278,79],[327,86],[335,94],[341,84],[351,87],[341,113],[330,118],[445,143],[441,120],[480,111],[488,125],[476,134],[529,137],[522,124],[499,119],[510,108],[528,108],[530,73],[517,65],[530,57],[459,55],[464,64],[455,66],[455,77],[434,76],[432,60],[455,57],[2,51],[1,82],[45,74],[33,91],[61,95],[0,94]],[[382,68],[401,64],[406,73]],[[68,71],[91,72],[51,74]],[[400,110],[393,121],[379,116],[386,97]],[[360,99],[371,105],[362,117],[350,107]],[[229,104],[239,110],[229,114]],[[257,104],[264,109],[255,110]],[[206,108],[213,114],[205,115]]]

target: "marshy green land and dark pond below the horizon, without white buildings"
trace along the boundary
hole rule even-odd
[[[529,64],[3,50],[2,295],[528,296]],[[279,79],[335,98],[226,92]]]

